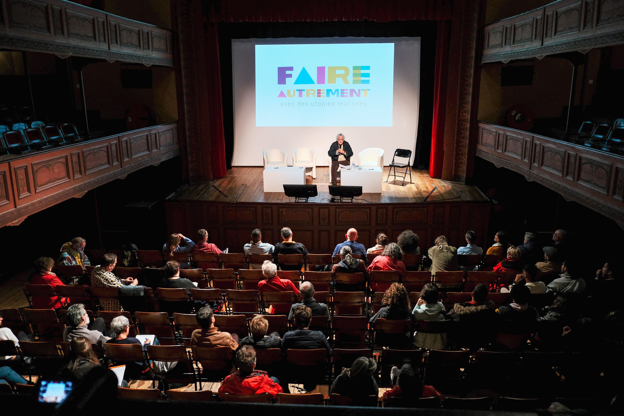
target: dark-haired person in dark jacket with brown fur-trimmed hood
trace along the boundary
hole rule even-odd
[[[478,348],[494,341],[494,324],[498,320],[496,305],[486,301],[488,287],[477,284],[472,290],[472,300],[453,305],[448,316],[458,322],[456,343],[460,346]]]

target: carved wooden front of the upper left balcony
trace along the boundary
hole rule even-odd
[[[0,0],[0,47],[173,65],[171,31],[63,0]]]

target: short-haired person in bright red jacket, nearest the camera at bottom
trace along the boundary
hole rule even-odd
[[[250,395],[269,393],[275,395],[283,392],[279,380],[269,377],[266,371],[256,370],[256,350],[252,346],[242,346],[236,351],[238,371],[228,375],[219,387],[219,395],[238,394]]]

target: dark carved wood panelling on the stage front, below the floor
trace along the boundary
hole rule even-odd
[[[465,244],[466,230],[487,236],[490,209],[490,201],[319,204],[165,200],[168,232],[193,235],[205,228],[210,241],[230,248],[230,253],[243,251],[254,228],[262,230],[266,243],[281,241],[283,226],[292,228],[295,241],[310,253],[333,253],[351,226],[367,248],[374,245],[378,233],[396,241],[402,231],[413,230],[420,237],[421,253],[427,253],[439,235],[456,247]]]

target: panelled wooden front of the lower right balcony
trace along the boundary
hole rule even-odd
[[[479,123],[477,156],[624,228],[624,157],[488,123]]]

